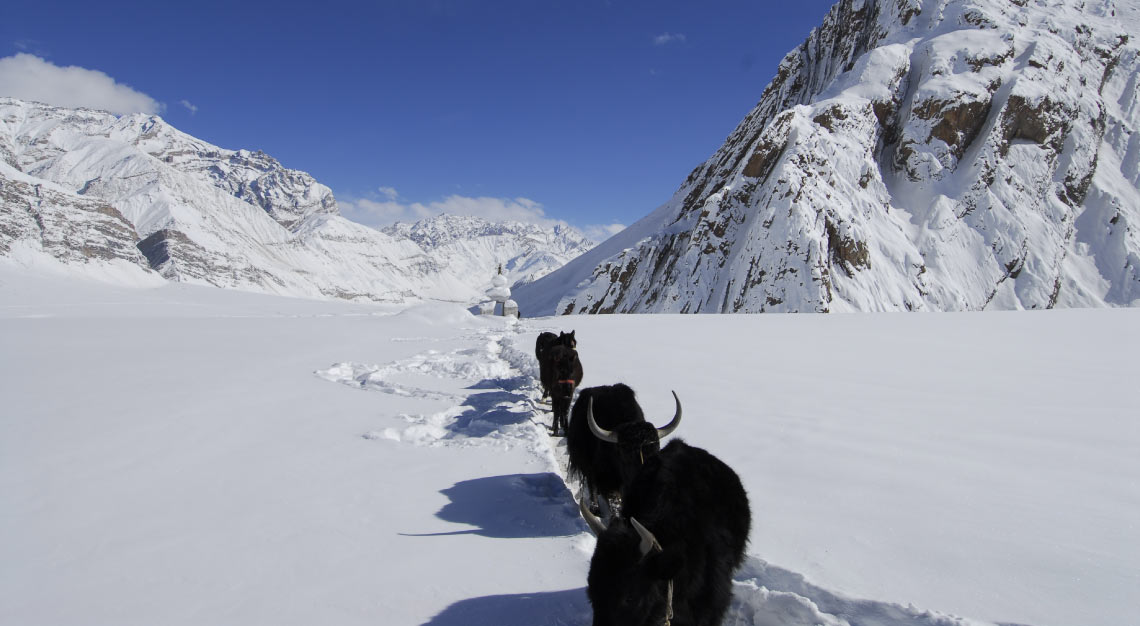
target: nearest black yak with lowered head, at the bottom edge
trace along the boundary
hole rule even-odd
[[[594,626],[717,626],[751,527],[731,468],[674,439],[622,489],[621,515],[583,517],[597,535],[587,595]]]

